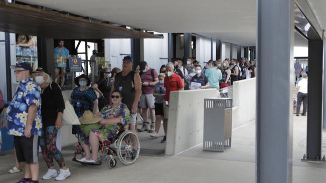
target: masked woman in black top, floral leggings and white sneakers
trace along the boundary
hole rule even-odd
[[[66,167],[62,153],[57,149],[57,133],[62,127],[62,114],[65,108],[65,102],[61,89],[57,83],[52,82],[50,75],[45,73],[42,68],[33,72],[35,81],[40,84],[42,90],[42,137],[40,145],[42,154],[49,169],[42,179],[55,178],[64,180],[71,175],[69,168]],[[59,163],[59,174],[54,168],[53,158]]]

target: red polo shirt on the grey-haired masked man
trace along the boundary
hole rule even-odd
[[[164,87],[166,87],[166,95],[164,99],[169,101],[170,91],[178,91],[179,88],[183,88],[184,81],[178,74],[173,73],[171,77],[164,77]]]

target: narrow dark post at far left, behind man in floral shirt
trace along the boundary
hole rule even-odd
[[[10,69],[10,33],[5,32],[5,52],[6,52],[6,79],[7,79],[7,100],[12,100],[12,71]]]

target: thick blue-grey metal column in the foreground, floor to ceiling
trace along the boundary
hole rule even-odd
[[[293,7],[294,0],[257,0],[256,45],[265,61],[257,63],[256,183],[292,182]]]

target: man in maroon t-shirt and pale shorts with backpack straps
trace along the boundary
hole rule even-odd
[[[139,64],[139,75],[141,79],[141,96],[140,96],[140,107],[142,108],[142,118],[143,124],[140,131],[148,131],[154,132],[155,131],[155,97],[153,96],[153,89],[155,84],[158,82],[157,72],[155,69],[150,68],[146,61],[141,61]],[[151,117],[151,124],[150,128],[148,129],[147,122],[147,108],[150,111]]]

